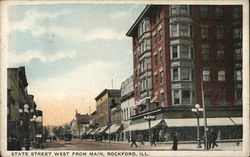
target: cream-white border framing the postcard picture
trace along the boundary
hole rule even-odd
[[[221,5],[243,5],[243,151],[145,151],[149,152],[150,156],[237,156],[237,157],[245,157],[249,156],[249,2],[247,0],[157,0],[157,1],[104,1],[104,0],[96,0],[96,1],[1,1],[1,54],[0,54],[0,64],[1,64],[1,154],[3,156],[11,156],[11,151],[6,151],[7,147],[7,116],[6,111],[7,107],[7,65],[8,65],[8,19],[7,19],[7,9],[11,5],[36,5],[36,4],[58,4],[58,3],[119,3],[119,4],[128,4],[128,3],[137,3],[137,4],[196,4],[196,5],[205,5],[205,4],[221,4]],[[29,151],[31,153],[34,151]],[[53,152],[53,151],[43,151],[43,152]],[[71,152],[71,151],[57,151],[57,152]],[[93,151],[85,151],[85,152],[93,152]],[[100,152],[100,151],[95,151]],[[105,151],[101,151],[105,152]],[[114,152],[122,152],[122,151],[114,151]],[[138,151],[136,151],[138,152]],[[30,154],[29,154],[30,155]]]

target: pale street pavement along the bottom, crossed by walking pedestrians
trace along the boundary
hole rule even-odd
[[[137,142],[138,147],[130,147],[129,143],[108,143],[95,141],[52,141],[46,143],[45,150],[168,150],[172,148],[172,144],[157,144],[156,146],[141,145]],[[239,146],[235,142],[218,143],[219,147],[209,151],[240,151],[242,143]],[[196,148],[196,144],[179,144],[180,151],[203,151],[203,148]]]

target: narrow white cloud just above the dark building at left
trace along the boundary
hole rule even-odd
[[[32,59],[39,59],[41,62],[55,62],[64,58],[74,58],[74,51],[60,51],[55,54],[43,54],[40,51],[26,51],[24,53],[10,53],[11,65],[18,63],[28,63]]]

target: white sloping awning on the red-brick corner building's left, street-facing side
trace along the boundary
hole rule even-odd
[[[151,121],[151,128],[154,128],[160,124],[165,125],[165,121],[163,119],[158,119],[158,120],[152,120]],[[128,132],[128,131],[139,131],[139,130],[148,130],[149,129],[149,124],[148,122],[144,122],[144,123],[139,123],[139,124],[134,124],[134,125],[130,125],[128,126],[125,130],[123,130],[123,132]]]

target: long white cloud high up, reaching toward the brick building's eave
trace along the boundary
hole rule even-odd
[[[79,27],[67,27],[64,25],[41,25],[39,21],[49,18],[51,20],[59,18],[59,16],[71,16],[72,11],[69,9],[62,9],[54,13],[39,12],[36,10],[29,10],[25,13],[22,21],[11,22],[10,32],[15,31],[31,31],[33,36],[41,36],[43,34],[55,34],[65,40],[75,42],[85,42],[98,39],[106,40],[122,40],[125,38],[125,31],[115,31],[111,28],[89,28],[89,30]]]

